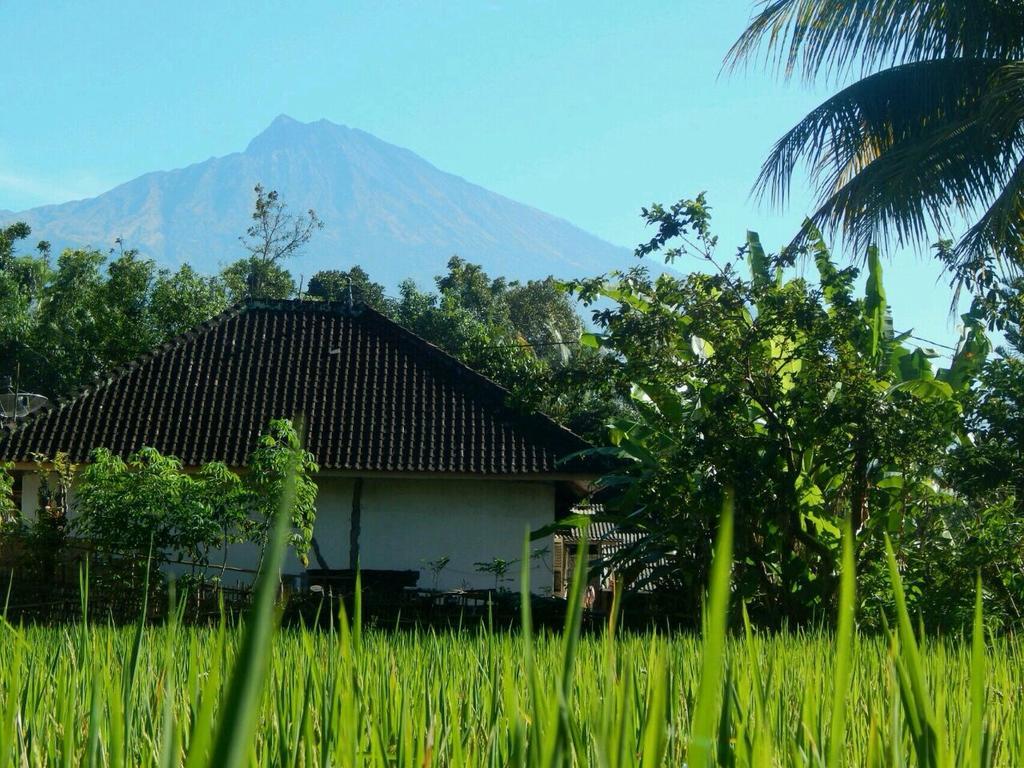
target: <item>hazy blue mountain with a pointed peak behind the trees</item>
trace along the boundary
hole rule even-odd
[[[18,213],[33,240],[109,248],[115,238],[165,266],[214,271],[243,255],[253,186],[325,222],[293,274],[361,265],[377,281],[430,285],[449,257],[513,279],[580,276],[632,263],[630,252],[569,222],[435,168],[409,150],[326,120],[281,116],[245,152],[147,173],[88,200]]]

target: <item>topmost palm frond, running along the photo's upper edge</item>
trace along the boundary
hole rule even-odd
[[[762,49],[786,77],[801,71],[806,78],[937,58],[1024,57],[1024,4],[1016,0],[761,0],[758,6],[726,68]]]

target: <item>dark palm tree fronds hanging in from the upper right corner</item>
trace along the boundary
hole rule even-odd
[[[727,67],[763,47],[786,78],[860,79],[777,141],[756,193],[784,204],[803,167],[810,221],[857,247],[966,221],[955,266],[1024,266],[1024,1],[761,0]]]

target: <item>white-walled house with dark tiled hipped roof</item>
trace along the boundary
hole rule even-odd
[[[442,589],[494,586],[475,563],[517,560],[526,529],[550,524],[587,493],[586,447],[508,392],[379,312],[327,302],[250,302],[115,371],[0,437],[24,513],[33,514],[34,457],[152,446],[186,467],[241,468],[272,419],[302,414],[319,465],[310,568],[419,570],[447,557]],[[353,509],[357,510],[352,524]],[[550,546],[550,542],[548,543]],[[541,546],[535,544],[535,546]],[[255,567],[231,545],[233,568]],[[290,556],[286,572],[304,568]],[[518,570],[508,574],[518,583]],[[550,557],[531,584],[552,590]]]

